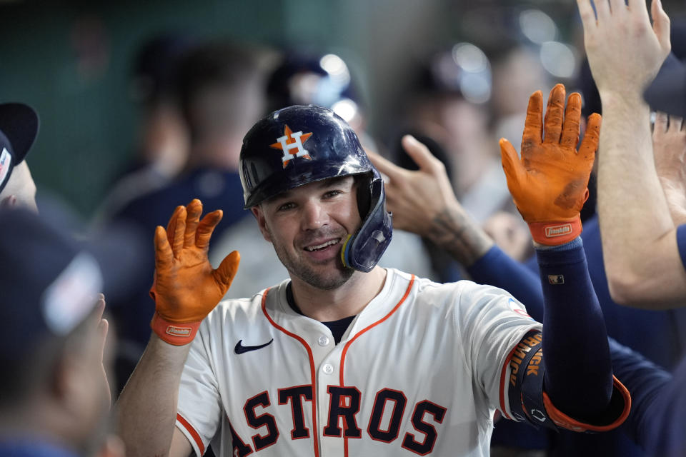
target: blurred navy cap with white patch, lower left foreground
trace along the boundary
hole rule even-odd
[[[89,316],[103,287],[96,256],[58,221],[0,211],[0,360],[24,357]]]

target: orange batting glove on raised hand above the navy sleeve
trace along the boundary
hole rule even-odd
[[[507,188],[534,241],[557,246],[581,234],[579,212],[588,199],[601,118],[596,113],[589,116],[577,152],[581,96],[571,94],[565,110],[565,86],[557,84],[548,97],[545,121],[542,111],[543,96],[536,91],[529,99],[522,158],[504,138],[500,139],[500,154]]]

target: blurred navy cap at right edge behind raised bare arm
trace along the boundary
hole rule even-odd
[[[643,96],[655,111],[686,117],[686,64],[670,53]]]

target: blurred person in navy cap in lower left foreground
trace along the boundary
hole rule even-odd
[[[0,455],[122,456],[101,266],[57,221],[0,211]]]

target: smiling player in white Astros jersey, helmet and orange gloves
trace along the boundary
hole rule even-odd
[[[555,429],[622,423],[630,398],[578,238],[600,130],[591,116],[577,153],[580,103],[565,111],[556,86],[542,141],[537,92],[522,161],[501,141],[547,278],[543,325],[502,289],[376,265],[392,236],[383,181],[332,111],[259,121],[241,151],[245,206],[290,278],[217,306],[239,263],[207,261],[221,211],[200,219],[194,200],[156,229],[154,333],[119,398],[129,453],[487,456],[496,410]]]

